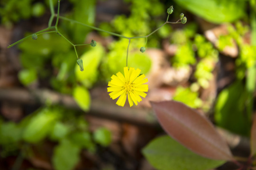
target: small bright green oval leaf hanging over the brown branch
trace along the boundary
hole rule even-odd
[[[90,109],[91,97],[86,88],[82,86],[75,87],[73,89],[73,98],[82,110],[88,111]]]

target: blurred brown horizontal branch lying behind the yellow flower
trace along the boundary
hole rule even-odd
[[[70,95],[64,95],[46,89],[27,90],[20,88],[0,88],[0,101],[44,105],[49,100],[53,105],[58,104],[69,109],[81,110]],[[87,114],[142,126],[158,125],[152,110],[120,107],[109,101],[92,99],[91,109]]]

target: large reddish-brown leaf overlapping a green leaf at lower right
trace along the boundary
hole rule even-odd
[[[215,160],[233,160],[228,144],[211,122],[181,102],[151,102],[165,132],[201,156]]]

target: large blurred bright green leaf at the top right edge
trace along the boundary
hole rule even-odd
[[[233,22],[245,15],[245,0],[174,0],[182,8],[213,23]]]

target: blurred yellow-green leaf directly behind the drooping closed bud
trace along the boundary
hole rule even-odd
[[[82,59],[84,71],[80,71],[80,67],[76,65],[75,76],[84,86],[90,88],[96,82],[99,74],[98,67],[104,54],[104,48],[100,44],[82,54],[80,59]]]

